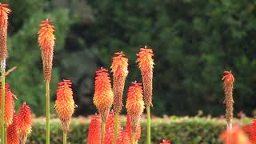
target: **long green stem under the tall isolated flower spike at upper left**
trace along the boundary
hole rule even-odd
[[[46,81],[46,144],[50,144],[50,81]]]

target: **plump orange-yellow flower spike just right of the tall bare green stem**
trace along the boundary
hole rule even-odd
[[[65,134],[69,130],[70,120],[75,108],[71,85],[70,80],[64,79],[63,82],[58,82],[57,98],[54,106]]]

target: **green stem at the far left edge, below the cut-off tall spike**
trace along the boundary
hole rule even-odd
[[[2,136],[2,139],[1,139],[1,143],[2,144],[5,144],[6,142],[6,138],[5,138],[5,120],[4,120],[4,115],[5,115],[5,92],[6,92],[6,70],[2,70],[2,97],[1,97],[1,127],[2,127],[2,130],[1,130],[1,136]]]

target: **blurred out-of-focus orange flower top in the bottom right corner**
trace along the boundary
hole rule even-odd
[[[227,129],[220,136],[223,144],[245,144],[250,143],[245,132],[238,126]]]

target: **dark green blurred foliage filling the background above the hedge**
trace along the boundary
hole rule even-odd
[[[235,113],[256,107],[256,2],[250,0],[6,0],[10,4],[8,68],[17,105],[44,114],[44,82],[38,25],[56,27],[51,99],[57,82],[74,82],[76,114],[96,112],[94,71],[110,68],[116,51],[130,60],[130,82],[142,81],[139,47],[154,49],[153,114],[224,114],[223,70],[235,76]],[[126,98],[126,90],[124,94]],[[52,106],[53,107],[53,106]],[[123,110],[124,111],[124,110]]]

